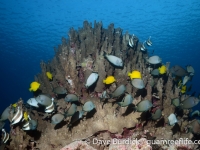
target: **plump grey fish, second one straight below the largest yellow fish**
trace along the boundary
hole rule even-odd
[[[148,111],[153,106],[152,102],[149,100],[142,100],[137,106],[135,106],[138,112]]]

